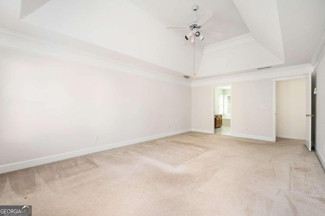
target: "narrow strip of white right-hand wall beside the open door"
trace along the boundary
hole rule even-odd
[[[317,94],[313,95],[314,121],[312,127],[313,142],[318,158],[325,168],[325,57],[322,57],[313,73],[313,87],[317,87]]]

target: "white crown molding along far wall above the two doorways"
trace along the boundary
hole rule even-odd
[[[225,75],[210,79],[194,80],[192,81],[192,87],[229,84],[233,82],[242,82],[248,80],[262,80],[262,79],[274,79],[293,76],[308,75],[313,72],[313,66],[311,64],[300,64],[287,67],[272,68],[267,70],[251,71],[242,74]]]

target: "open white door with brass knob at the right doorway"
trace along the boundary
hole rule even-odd
[[[311,151],[311,73],[306,78],[306,147]]]

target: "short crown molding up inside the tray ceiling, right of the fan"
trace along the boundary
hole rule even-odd
[[[217,50],[221,50],[221,49],[225,49],[225,48],[229,48],[229,47],[233,47],[233,46],[237,46],[237,45],[244,44],[244,43],[251,42],[251,41],[254,41],[254,38],[251,33],[242,34],[242,35],[239,35],[238,37],[234,37],[234,38],[231,38],[228,40],[224,40],[221,42],[217,42],[217,43],[205,46],[204,54],[215,52]]]

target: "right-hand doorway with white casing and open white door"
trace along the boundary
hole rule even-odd
[[[274,80],[274,141],[277,138],[306,141],[311,151],[310,75]]]

